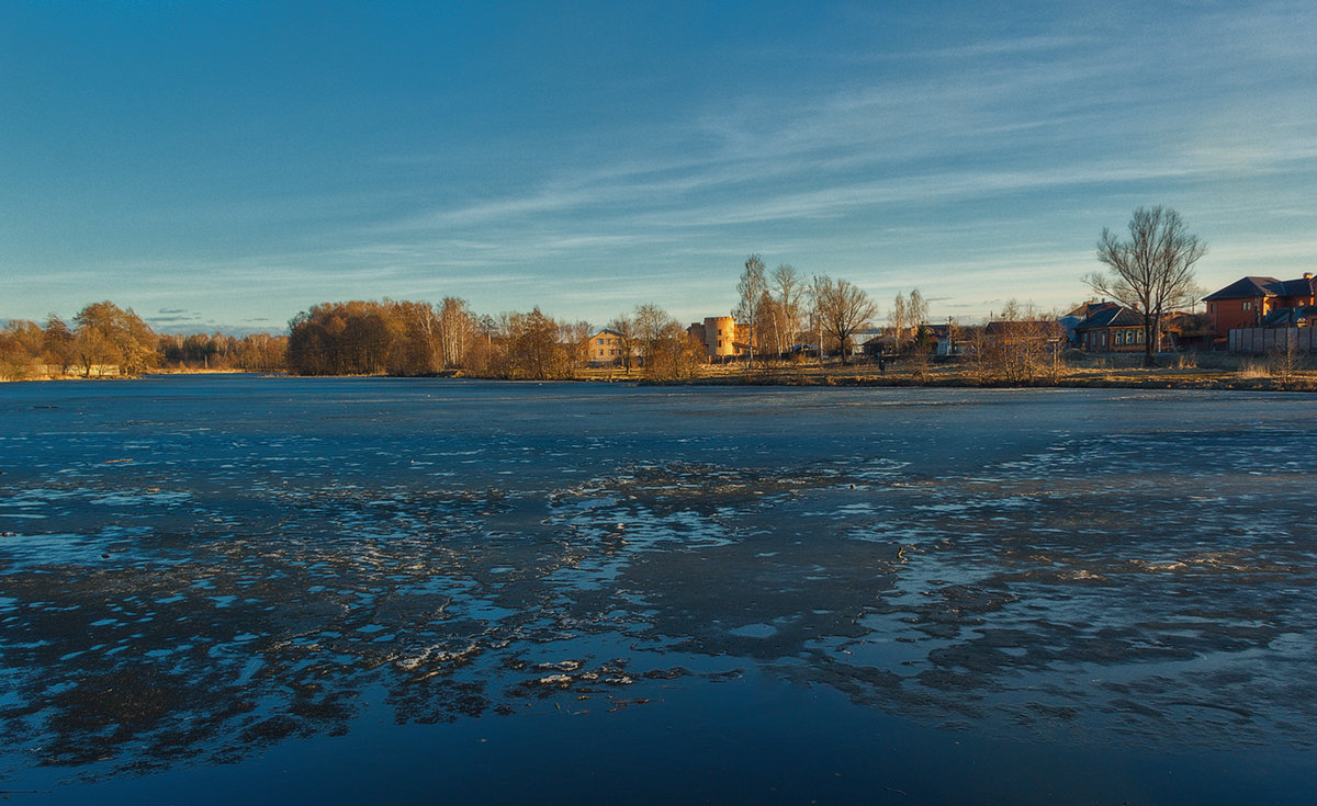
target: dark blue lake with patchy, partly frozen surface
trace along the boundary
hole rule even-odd
[[[0,792],[1303,802],[1314,407],[0,385]]]

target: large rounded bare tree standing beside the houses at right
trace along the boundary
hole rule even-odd
[[[1197,298],[1193,265],[1206,253],[1208,245],[1189,234],[1180,213],[1166,207],[1135,209],[1129,241],[1102,229],[1097,259],[1106,270],[1085,275],[1084,284],[1143,313],[1143,366],[1156,366],[1163,317]]]

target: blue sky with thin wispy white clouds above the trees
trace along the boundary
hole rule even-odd
[[[0,319],[349,299],[726,315],[747,255],[934,321],[1317,270],[1317,4],[0,3]]]

